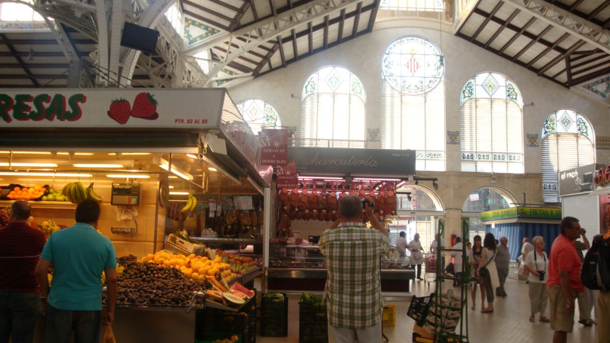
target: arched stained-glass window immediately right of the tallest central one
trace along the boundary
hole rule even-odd
[[[523,100],[512,81],[477,74],[461,105],[462,171],[523,173]]]

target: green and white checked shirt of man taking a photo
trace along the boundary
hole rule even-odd
[[[330,325],[361,330],[380,322],[379,256],[389,250],[389,237],[362,223],[340,223],[324,231],[319,245],[328,268],[323,298]]]

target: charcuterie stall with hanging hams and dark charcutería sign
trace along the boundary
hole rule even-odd
[[[315,239],[337,220],[338,200],[347,194],[370,197],[380,222],[395,218],[397,184],[415,173],[415,155],[411,150],[289,147],[288,160],[295,162],[298,178],[276,184],[276,226],[265,281],[267,289],[280,292],[321,292],[326,264]],[[408,259],[385,256],[379,263],[384,295],[409,294],[415,272]]]

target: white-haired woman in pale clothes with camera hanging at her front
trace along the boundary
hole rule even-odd
[[[548,256],[547,253],[544,252],[544,239],[542,239],[542,237],[534,237],[532,239],[532,244],[535,249],[525,256],[524,265],[524,268],[529,272],[529,306],[531,309],[529,321],[534,322],[534,315],[536,312],[540,312],[540,322],[548,323],[550,320],[544,316],[548,301]]]

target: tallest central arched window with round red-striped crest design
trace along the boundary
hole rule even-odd
[[[445,170],[445,66],[422,38],[393,42],[382,58],[381,147],[415,150],[415,169]]]

